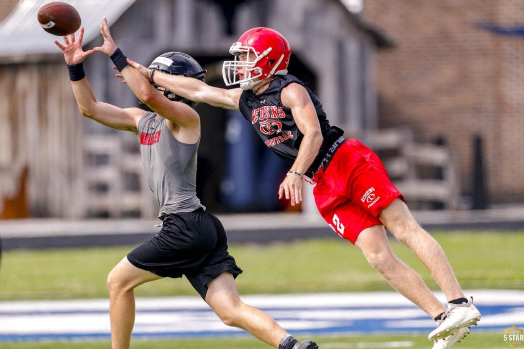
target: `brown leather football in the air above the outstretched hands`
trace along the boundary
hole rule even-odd
[[[52,35],[70,35],[80,28],[82,20],[77,9],[70,4],[55,1],[40,7],[38,22]]]

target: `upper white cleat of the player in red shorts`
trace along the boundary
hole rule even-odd
[[[480,319],[481,312],[473,305],[473,297],[464,304],[449,303],[446,312],[442,315],[442,320],[437,321],[439,326],[429,334],[428,339],[436,342],[456,333],[456,330],[476,325]]]

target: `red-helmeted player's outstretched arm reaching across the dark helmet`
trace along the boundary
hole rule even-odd
[[[149,78],[149,69],[130,59],[127,62],[140,74]],[[188,98],[198,103],[206,103],[214,107],[238,110],[238,101],[242,94],[241,88],[225,89],[213,87],[203,81],[195,80],[181,75],[169,75],[155,71],[151,76],[152,81],[179,96]]]

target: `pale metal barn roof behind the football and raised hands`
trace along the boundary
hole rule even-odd
[[[110,25],[135,0],[62,0],[74,6],[82,18],[84,43],[100,35],[99,23],[106,16]],[[44,31],[37,20],[41,0],[20,0],[12,13],[0,22],[0,59],[26,61],[28,55],[60,53],[53,40],[59,39]]]

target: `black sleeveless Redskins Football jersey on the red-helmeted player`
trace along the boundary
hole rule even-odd
[[[331,145],[343,135],[344,131],[330,125],[320,100],[308,84],[301,82],[293,75],[276,75],[276,79],[269,84],[269,87],[263,93],[255,95],[252,90],[244,91],[238,106],[242,115],[252,123],[256,133],[266,146],[291,165],[298,155],[298,149],[304,137],[294,122],[291,109],[283,106],[280,100],[282,88],[291,83],[300,84],[307,89],[319,118],[320,129],[324,138],[319,153],[305,173],[312,178],[324,155]]]

